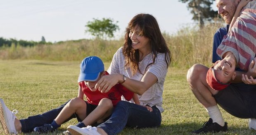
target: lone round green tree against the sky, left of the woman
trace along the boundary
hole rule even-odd
[[[116,21],[118,23],[118,21]],[[85,32],[92,34],[93,36],[99,38],[106,37],[114,37],[114,32],[119,30],[119,26],[117,26],[113,19],[105,19],[102,20],[93,19],[93,21],[88,21],[85,26],[87,29]]]

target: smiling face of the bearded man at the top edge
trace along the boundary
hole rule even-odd
[[[216,0],[218,14],[222,16],[225,23],[230,24],[235,14],[238,0]]]

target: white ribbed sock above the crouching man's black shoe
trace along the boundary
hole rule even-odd
[[[225,125],[224,119],[223,119],[223,117],[222,117],[222,115],[220,113],[220,109],[218,108],[217,105],[212,106],[212,107],[207,107],[205,109],[208,112],[210,118],[213,120],[213,123],[216,122],[220,126],[224,126]]]

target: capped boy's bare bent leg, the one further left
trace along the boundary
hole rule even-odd
[[[80,119],[85,119],[86,117],[86,103],[81,98],[73,98],[65,105],[59,115],[56,117],[55,121],[58,125],[64,123],[72,114],[78,114]]]

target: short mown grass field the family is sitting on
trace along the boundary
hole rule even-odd
[[[18,119],[58,107],[77,96],[79,65],[79,61],[0,60],[0,98],[9,109],[19,110],[16,115]],[[105,65],[107,69],[109,63]],[[171,67],[168,70],[164,85],[165,111],[162,113],[161,127],[125,128],[120,135],[187,135],[192,130],[200,128],[204,121],[208,121],[208,114],[187,84],[187,69]],[[228,131],[208,135],[256,134],[256,131],[248,129],[247,119],[238,119],[223,109],[220,110],[228,122]],[[67,126],[73,124],[76,124],[76,119],[63,124],[55,133],[48,135],[61,135]],[[3,135],[2,127],[0,135]]]

